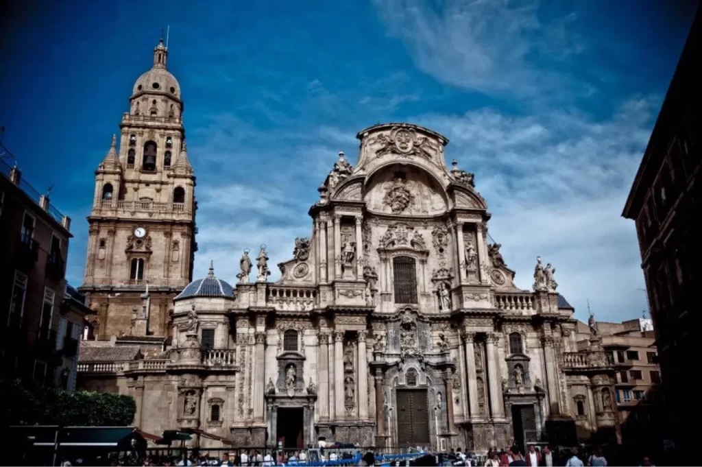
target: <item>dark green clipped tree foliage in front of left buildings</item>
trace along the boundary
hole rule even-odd
[[[128,426],[134,420],[133,397],[22,386],[20,381],[0,381],[0,416],[8,425]]]

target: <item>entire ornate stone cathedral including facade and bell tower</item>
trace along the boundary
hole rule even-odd
[[[167,55],[154,48],[95,171],[82,388],[132,395],[135,426],[208,447],[614,438],[597,324],[576,341],[548,258],[533,290],[515,286],[474,174],[422,126],[359,131],[355,164],[339,152],[277,282],[263,244],[219,258],[239,259],[235,285],[213,265],[192,280],[195,177]]]

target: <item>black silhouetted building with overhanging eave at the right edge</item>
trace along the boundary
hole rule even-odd
[[[697,13],[675,69],[623,216],[636,223],[649,308],[656,330],[665,395],[667,446],[696,451],[698,404],[689,395],[689,358],[696,354],[700,318],[693,291],[702,287],[702,18]]]

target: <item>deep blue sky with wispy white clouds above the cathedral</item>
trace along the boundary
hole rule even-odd
[[[261,243],[273,264],[291,257],[336,152],[354,163],[359,129],[411,121],[475,172],[519,287],[541,255],[580,319],[588,299],[600,320],[646,308],[620,213],[693,2],[14,3],[0,19],[3,141],[73,219],[74,285],[93,171],[171,25],[197,175],[196,276],[214,259],[235,282],[241,249]]]

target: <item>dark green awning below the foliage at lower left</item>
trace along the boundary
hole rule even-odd
[[[103,447],[132,450],[145,447],[146,440],[133,426],[13,426],[13,435],[36,447]],[[57,438],[58,431],[58,438]]]

